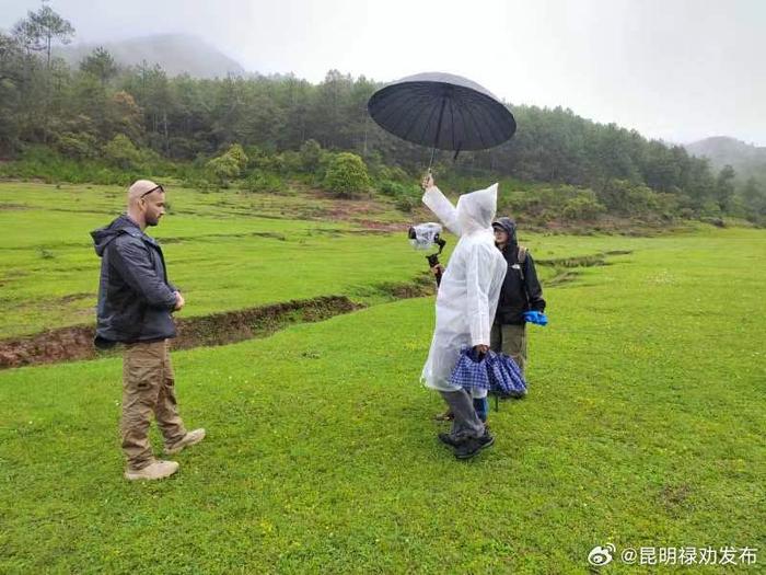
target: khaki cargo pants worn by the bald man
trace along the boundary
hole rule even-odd
[[[175,380],[167,340],[128,344],[123,354],[123,450],[131,470],[154,461],[149,445],[152,413],[165,447],[186,435],[175,401]]]

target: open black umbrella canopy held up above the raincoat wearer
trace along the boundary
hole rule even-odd
[[[367,107],[385,130],[440,150],[486,150],[517,129],[513,114],[489,90],[450,73],[403,78],[372,94]]]

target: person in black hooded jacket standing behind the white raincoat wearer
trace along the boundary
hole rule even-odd
[[[495,244],[508,263],[500,301],[490,333],[490,348],[513,358],[524,373],[526,367],[526,311],[545,311],[543,288],[537,280],[534,260],[517,240],[517,225],[511,218],[492,223]]]

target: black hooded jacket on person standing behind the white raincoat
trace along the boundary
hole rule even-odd
[[[502,250],[508,271],[502,283],[495,323],[521,325],[526,323],[522,315],[525,311],[545,311],[543,288],[537,280],[532,254],[527,252],[524,263],[519,264],[515,222],[510,218],[500,218],[492,226],[499,226],[508,233],[508,243]]]

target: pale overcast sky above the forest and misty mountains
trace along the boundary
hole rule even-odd
[[[0,0],[0,27],[36,9]],[[81,42],[205,38],[262,73],[390,81],[466,76],[514,104],[561,105],[652,138],[766,146],[766,1],[53,0]]]

